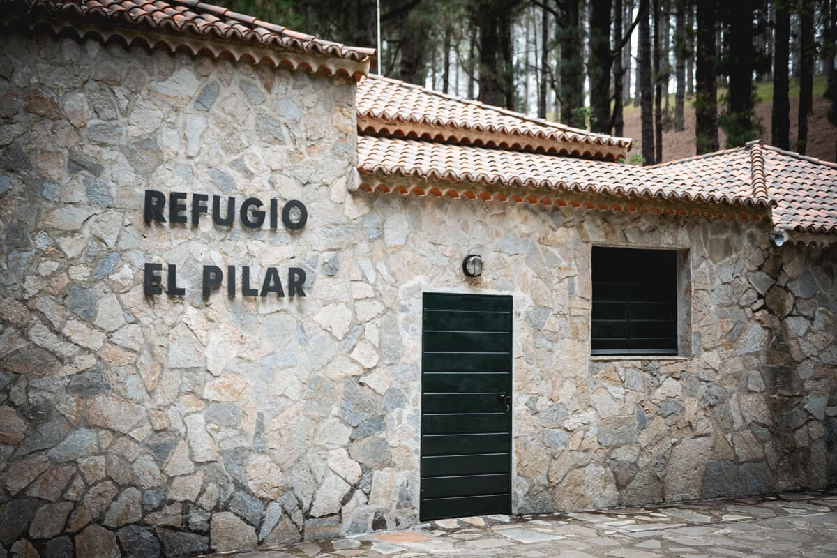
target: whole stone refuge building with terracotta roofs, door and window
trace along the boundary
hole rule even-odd
[[[195,0],[0,7],[0,556],[834,486],[833,163],[625,165]]]

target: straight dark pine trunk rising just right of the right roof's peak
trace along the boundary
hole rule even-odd
[[[788,40],[790,13],[786,0],[776,3],[776,23],[773,35],[773,115],[770,142],[781,149],[790,149],[790,100],[788,100]]]

